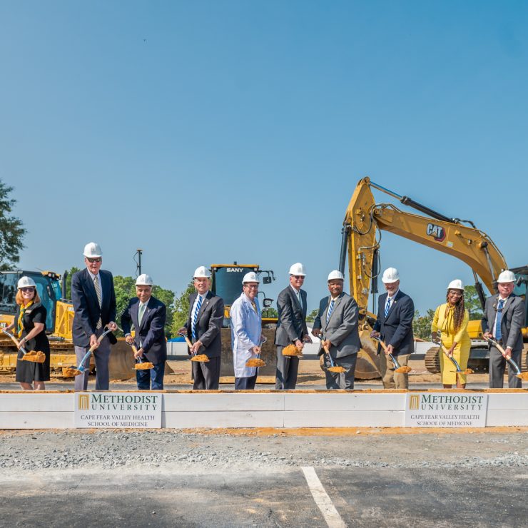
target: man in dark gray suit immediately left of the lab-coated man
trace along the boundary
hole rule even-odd
[[[189,354],[205,354],[208,362],[193,361],[193,390],[218,390],[220,382],[220,356],[224,304],[222,298],[209,290],[210,271],[205,266],[196,268],[196,293],[189,295],[187,323],[178,332],[185,333],[193,346]]]

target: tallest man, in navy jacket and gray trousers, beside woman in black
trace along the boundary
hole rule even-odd
[[[103,261],[101,248],[95,242],[84,246],[86,268],[74,273],[71,278],[71,300],[73,300],[73,345],[77,364],[97,345],[97,338],[104,327],[116,330],[116,293],[113,291],[113,277],[109,271],[101,270]],[[108,390],[110,345],[116,342],[113,334],[108,334],[93,351],[96,360],[96,390]],[[86,360],[88,363],[89,360]],[[88,365],[85,365],[88,366]],[[88,370],[75,377],[75,390],[88,388]]]

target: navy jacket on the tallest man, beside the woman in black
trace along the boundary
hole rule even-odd
[[[109,271],[99,270],[103,305],[99,308],[96,288],[88,270],[84,268],[71,277],[71,300],[73,300],[73,345],[88,347],[90,335],[96,333],[96,325],[101,318],[104,325],[116,320],[116,293],[113,290],[113,277]],[[112,333],[108,334],[111,343],[116,342]]]

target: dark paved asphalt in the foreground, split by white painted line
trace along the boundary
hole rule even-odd
[[[1,478],[1,527],[323,527],[302,470]],[[346,526],[526,526],[526,468],[316,468]],[[463,493],[463,499],[461,494]]]

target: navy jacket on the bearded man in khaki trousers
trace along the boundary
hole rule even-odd
[[[415,338],[412,334],[412,320],[415,318],[415,303],[406,293],[398,290],[392,300],[389,313],[385,318],[385,303],[388,293],[383,293],[377,300],[377,320],[373,330],[380,332],[385,345],[392,345],[392,355],[407,355],[415,351]],[[381,345],[377,346],[379,354]]]

